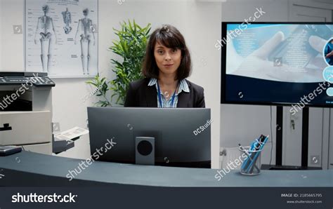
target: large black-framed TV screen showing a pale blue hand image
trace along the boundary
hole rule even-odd
[[[221,103],[333,107],[333,22],[222,22]]]

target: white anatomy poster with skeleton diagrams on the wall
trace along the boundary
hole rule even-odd
[[[98,0],[25,0],[25,70],[95,76],[97,24]]]

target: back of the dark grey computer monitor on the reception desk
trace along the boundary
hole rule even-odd
[[[98,161],[136,162],[136,137],[155,138],[155,165],[211,168],[207,108],[88,107],[91,154],[115,144]]]

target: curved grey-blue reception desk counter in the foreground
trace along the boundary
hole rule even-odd
[[[34,186],[38,182],[34,180],[45,180],[48,182],[45,186],[53,186],[56,184],[53,179],[71,185],[66,175],[69,170],[79,170],[81,161],[30,151],[0,156],[0,174],[5,175],[0,179],[0,186]],[[216,174],[215,169],[139,166],[95,161],[82,170],[72,182],[156,187],[333,187],[333,170],[262,170],[261,174],[256,176],[244,176],[232,170],[220,181],[216,180]]]

